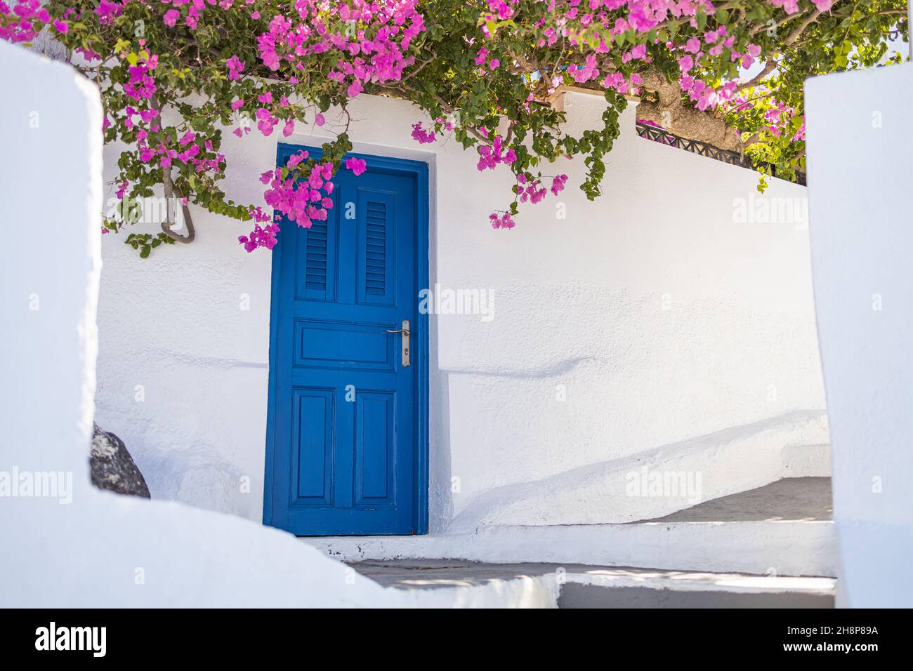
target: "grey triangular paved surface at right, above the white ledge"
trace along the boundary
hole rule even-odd
[[[654,522],[834,519],[830,477],[786,477],[766,487],[714,498]]]

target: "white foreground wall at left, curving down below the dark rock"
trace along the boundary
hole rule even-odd
[[[427,603],[384,590],[277,529],[89,484],[100,100],[72,68],[4,41],[0,89],[8,94],[0,194],[16,236],[0,248],[0,607]],[[44,179],[51,163],[66,166],[66,179]],[[28,225],[39,228],[16,235]],[[538,584],[511,587],[516,603],[549,603]],[[436,599],[450,604],[446,594]]]

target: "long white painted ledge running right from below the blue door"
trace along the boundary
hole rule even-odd
[[[467,534],[302,541],[342,561],[531,561],[834,577],[837,560],[834,523],[804,520],[498,526]]]

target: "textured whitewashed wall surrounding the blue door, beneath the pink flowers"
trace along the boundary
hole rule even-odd
[[[603,111],[565,106],[573,131]],[[494,231],[506,170],[478,173],[453,141],[419,147],[403,101],[362,96],[352,118],[357,150],[431,166],[432,284],[494,292],[493,320],[431,321],[432,530],[494,488],[824,408],[807,225],[737,221],[755,173],[638,138],[632,107],[601,198],[577,189],[581,161],[561,163],[566,192]],[[279,140],[226,135],[236,201],[261,202]],[[804,192],[772,180],[766,197]],[[242,225],[194,221],[193,245],[145,261],[104,236],[97,419],[153,497],[260,519],[270,257],[237,245]]]

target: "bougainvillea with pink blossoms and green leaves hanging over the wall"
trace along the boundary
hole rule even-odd
[[[112,191],[169,197],[247,223],[240,243],[272,248],[279,220],[310,226],[332,207],[350,100],[413,101],[415,142],[453,139],[480,171],[508,170],[490,225],[559,194],[582,156],[600,193],[619,114],[639,100],[658,125],[725,138],[790,179],[804,169],[803,82],[901,59],[907,0],[47,0],[0,1],[0,37],[50,39],[99,88],[106,142],[124,147]],[[574,135],[551,104],[562,86],[598,91],[602,120]],[[226,133],[334,138],[319,157],[263,166],[268,208],[220,186]],[[731,148],[731,147],[730,147]],[[488,196],[487,196],[488,197]],[[272,212],[269,212],[269,208]],[[120,231],[130,207],[105,221]],[[165,232],[126,242],[148,256]]]

